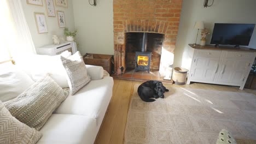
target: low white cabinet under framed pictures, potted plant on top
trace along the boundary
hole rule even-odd
[[[61,43],[59,45],[45,45],[42,47],[37,48],[37,53],[39,55],[59,55],[63,51],[70,51],[72,54],[77,52],[77,43],[74,41],[67,41],[66,43]]]

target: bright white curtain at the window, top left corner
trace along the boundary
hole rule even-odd
[[[0,0],[0,62],[11,56],[36,53],[21,1]]]

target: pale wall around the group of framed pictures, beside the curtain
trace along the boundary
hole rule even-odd
[[[22,7],[24,9],[24,14],[28,23],[28,27],[30,28],[34,46],[36,48],[41,47],[43,45],[53,44],[53,34],[58,35],[62,38],[65,38],[63,35],[64,28],[59,27],[58,21],[57,21],[57,15],[56,17],[48,17],[48,14],[46,12],[45,0],[42,0],[43,7],[27,4],[26,0],[20,0],[20,1],[22,3]],[[72,1],[70,0],[68,1],[68,8],[56,7],[55,5],[55,11],[57,10],[64,11],[65,18],[66,18],[66,27],[68,27],[70,30],[74,30],[74,16],[73,16]],[[38,34],[36,21],[34,20],[34,12],[45,14],[46,23],[48,26],[48,33]]]

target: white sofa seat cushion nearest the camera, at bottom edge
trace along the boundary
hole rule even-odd
[[[38,144],[88,143],[93,144],[97,135],[96,121],[79,115],[53,114],[40,130],[43,137]]]

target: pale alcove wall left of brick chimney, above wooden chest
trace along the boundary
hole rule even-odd
[[[93,2],[93,1],[91,1]],[[98,0],[97,7],[88,0],[73,0],[78,50],[85,53],[114,53],[113,0]]]

